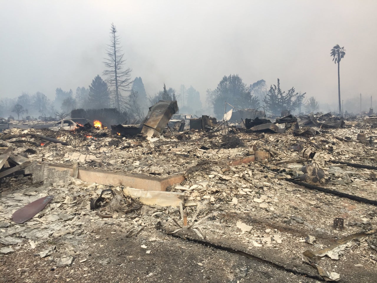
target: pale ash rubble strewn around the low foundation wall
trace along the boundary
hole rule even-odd
[[[227,128],[228,138],[224,138],[225,129],[221,129],[209,133],[169,132],[153,140],[112,135],[108,129],[5,130],[0,135],[0,148],[12,146],[14,154],[35,163],[72,166],[78,161],[84,168],[154,178],[184,174],[185,180],[166,188],[184,194],[179,208],[143,205],[124,196],[123,186],[84,183],[77,178],[69,178],[69,183],[58,187],[46,183],[37,186],[29,176],[9,177],[3,180],[0,198],[0,252],[6,255],[38,249],[43,243],[59,238],[61,245],[46,257],[70,264],[70,257],[80,253],[80,242],[85,241],[87,233],[101,223],[116,223],[130,237],[137,233],[152,235],[158,227],[167,234],[198,237],[257,256],[265,254],[271,260],[278,261],[275,255],[280,255],[279,264],[289,258],[293,265],[304,265],[302,253],[311,246],[326,248],[339,238],[371,231],[376,225],[375,205],[287,181],[302,182],[300,176],[305,174],[302,166],[314,162],[324,173],[321,181],[315,183],[317,186],[368,200],[377,199],[376,130],[368,120],[345,122],[345,128],[312,127],[315,135],[311,137],[294,136],[293,128],[285,133],[271,133],[247,132],[241,126]],[[360,132],[365,134],[365,139],[360,140]],[[69,145],[45,143],[35,134]],[[305,148],[313,152],[309,159],[302,156]],[[266,154],[256,158],[259,160],[233,162],[256,156],[256,151]],[[369,166],[369,169],[336,162]],[[109,188],[118,196],[118,203],[109,205],[111,196],[107,196],[100,214],[91,210],[90,200]],[[24,224],[11,221],[14,211],[47,194],[54,195],[54,199],[35,217]],[[333,228],[335,217],[344,219],[342,230]],[[320,265],[326,271],[339,271],[349,261],[354,265],[363,263],[363,268],[372,271],[377,265],[376,246],[374,236],[349,241],[328,253]]]

